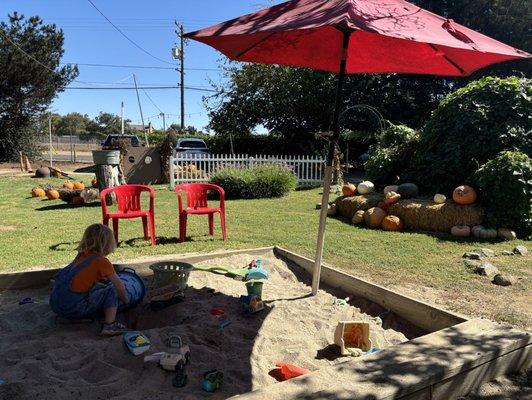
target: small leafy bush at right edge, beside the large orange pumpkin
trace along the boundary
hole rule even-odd
[[[484,206],[486,226],[532,235],[532,159],[517,151],[501,152],[472,179]]]

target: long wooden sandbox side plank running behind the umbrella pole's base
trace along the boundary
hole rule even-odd
[[[292,261],[312,275],[314,261],[310,258],[279,246],[275,246],[274,253]],[[325,264],[322,265],[321,281],[347,293],[371,300],[427,332],[435,332],[469,320],[464,315],[403,295]]]

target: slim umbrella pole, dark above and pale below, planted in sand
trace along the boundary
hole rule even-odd
[[[340,136],[338,120],[340,118],[340,108],[342,103],[342,89],[344,85],[345,70],[347,63],[347,49],[349,47],[349,37],[351,32],[344,32],[344,40],[342,45],[342,59],[340,61],[340,69],[338,72],[338,86],[336,88],[336,100],[334,103],[334,115],[332,123],[333,135],[329,141],[329,147],[327,150],[327,161],[325,164],[325,175],[323,178],[323,195],[321,198],[321,210],[320,210],[320,225],[318,228],[318,241],[316,244],[316,258],[314,261],[314,272],[312,275],[312,295],[315,296],[318,293],[320,286],[320,274],[321,263],[323,259],[323,244],[325,241],[325,226],[327,224],[327,210],[329,206],[329,192],[331,191],[332,180],[332,166],[334,160],[334,149],[336,142]]]

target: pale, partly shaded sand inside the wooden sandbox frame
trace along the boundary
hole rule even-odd
[[[242,267],[253,255],[238,255],[202,262],[229,268]],[[262,257],[270,279],[263,298],[266,309],[247,315],[239,296],[242,282],[205,272],[193,272],[183,303],[159,312],[139,310],[130,324],[151,340],[146,354],[166,349],[169,335],[181,335],[191,349],[188,384],[172,386],[173,373],[144,363],[123,346],[122,337],[102,338],[100,324],[71,323],[58,319],[48,306],[49,289],[0,293],[0,399],[225,399],[275,384],[275,361],[284,360],[309,370],[345,361],[333,343],[338,321],[368,321],[373,345],[385,348],[407,337],[383,329],[354,306],[336,305],[324,291],[308,296],[310,288],[284,262]],[[18,305],[24,297],[34,304]],[[352,303],[361,304],[357,299]],[[225,310],[223,318],[210,314]],[[390,324],[383,315],[384,326]],[[231,324],[220,329],[223,321]],[[225,380],[214,394],[200,387],[203,372],[218,368]]]

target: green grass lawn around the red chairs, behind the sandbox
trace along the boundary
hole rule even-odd
[[[86,182],[90,181],[85,176]],[[72,207],[62,201],[29,197],[41,183],[61,185],[59,179],[0,177],[0,272],[57,267],[75,256],[77,241],[89,224],[101,221],[99,204]],[[120,247],[111,260],[146,255],[208,252],[279,245],[306,256],[314,255],[318,224],[315,204],[319,189],[287,197],[227,202],[228,241],[221,240],[219,221],[208,236],[207,217],[189,218],[186,243],[178,243],[177,199],[165,186],[156,187],[156,233],[159,245],[142,239],[140,220],[120,222]],[[325,260],[329,264],[403,293],[471,316],[485,316],[528,327],[530,320],[531,257],[506,256],[490,260],[501,271],[519,278],[516,285],[498,287],[468,271],[461,255],[489,247],[496,251],[530,242],[456,241],[420,233],[393,233],[354,227],[328,220]]]

